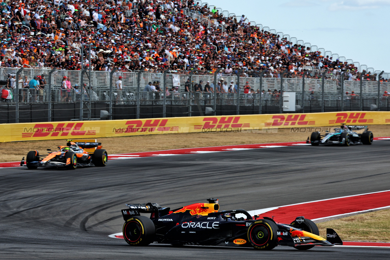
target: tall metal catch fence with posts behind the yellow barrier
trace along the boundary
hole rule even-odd
[[[296,113],[331,111],[390,111],[388,82],[348,81],[342,77],[332,80],[308,78],[261,78],[238,77],[237,75],[198,75],[163,73],[122,73],[102,71],[64,71],[48,69],[0,68],[2,91],[7,74],[17,74],[23,81],[25,76],[45,75],[47,85],[43,90],[18,87],[7,90],[0,101],[0,123],[52,122],[64,120],[100,119],[101,111],[108,112],[108,119],[140,119],[157,117],[184,117],[203,115],[247,115],[283,113],[280,94],[266,94],[268,90],[296,92]],[[70,78],[78,89],[63,90],[64,76]],[[115,82],[122,76],[122,90]],[[191,91],[185,92],[185,82],[190,78]],[[219,81],[237,85],[236,93],[221,93],[215,88]],[[142,91],[148,82],[160,81],[161,92]],[[196,92],[193,85],[207,81],[213,93]],[[83,87],[82,85],[85,86]],[[254,93],[243,93],[249,85]],[[169,91],[174,87],[174,92]],[[177,87],[177,88],[175,88]],[[168,91],[165,91],[167,90]],[[265,90],[264,94],[259,94]],[[349,96],[352,93],[356,96]],[[218,93],[217,93],[218,92]],[[349,92],[349,94],[346,94]],[[3,92],[4,93],[4,92]],[[5,97],[5,98],[4,98]],[[373,106],[374,105],[374,106]]]

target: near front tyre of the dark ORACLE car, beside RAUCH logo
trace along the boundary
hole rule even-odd
[[[278,245],[278,226],[268,219],[259,219],[248,228],[248,241],[258,250],[271,250]]]

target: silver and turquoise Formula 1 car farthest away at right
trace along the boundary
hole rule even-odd
[[[320,132],[313,132],[307,143],[312,145],[320,144],[339,144],[339,145],[371,145],[374,140],[374,135],[371,131],[368,131],[367,126],[345,126],[342,124],[340,127],[334,129],[334,132],[330,133],[326,131],[326,134]]]

